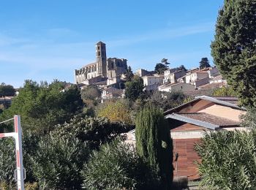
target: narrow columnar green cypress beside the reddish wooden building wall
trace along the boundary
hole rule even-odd
[[[154,106],[140,110],[135,129],[138,155],[160,176],[162,189],[170,189],[173,180],[173,143],[162,111]]]

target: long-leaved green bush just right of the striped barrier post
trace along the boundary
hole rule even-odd
[[[80,170],[88,155],[89,148],[77,137],[50,132],[31,156],[40,189],[80,189]]]

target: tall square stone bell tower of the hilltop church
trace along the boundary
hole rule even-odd
[[[96,61],[98,75],[102,75],[102,77],[107,77],[106,45],[103,42],[97,42],[96,44]]]

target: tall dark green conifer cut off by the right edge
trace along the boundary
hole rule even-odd
[[[256,106],[256,1],[225,0],[211,55],[241,104]]]

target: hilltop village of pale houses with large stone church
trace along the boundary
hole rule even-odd
[[[95,46],[96,61],[75,69],[75,83],[81,88],[96,86],[102,91],[102,102],[105,99],[124,98],[127,73],[126,58],[108,58],[106,45],[98,42]],[[210,66],[207,58],[202,58],[198,68],[186,69],[184,66],[170,68],[167,59],[154,71],[138,69],[134,75],[143,79],[143,91],[183,91],[188,95],[210,95],[214,88],[227,86],[227,81],[219,74],[216,66]]]

